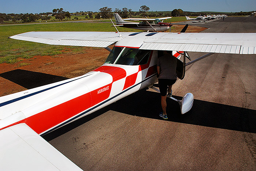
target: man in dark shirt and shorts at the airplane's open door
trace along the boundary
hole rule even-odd
[[[172,85],[177,80],[176,65],[177,59],[172,55],[172,51],[163,51],[163,56],[157,60],[158,85],[163,110],[159,116],[163,119],[168,118],[166,114],[166,97],[172,96]]]

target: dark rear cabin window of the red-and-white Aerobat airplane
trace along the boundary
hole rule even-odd
[[[120,65],[143,65],[148,62],[150,50],[114,47],[105,63]]]

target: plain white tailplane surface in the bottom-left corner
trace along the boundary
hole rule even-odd
[[[0,165],[9,170],[82,171],[26,124],[0,131]]]

